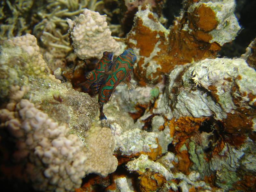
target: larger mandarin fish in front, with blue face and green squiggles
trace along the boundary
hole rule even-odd
[[[105,76],[99,90],[100,120],[107,119],[103,113],[103,105],[110,100],[116,86],[127,84],[128,88],[131,89],[134,85],[131,82],[131,73],[136,59],[133,50],[127,49],[108,66],[108,76]]]

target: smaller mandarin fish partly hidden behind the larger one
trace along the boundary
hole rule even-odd
[[[102,80],[108,75],[106,69],[108,69],[108,66],[111,64],[113,55],[113,52],[103,52],[103,57],[98,62],[97,67],[94,70],[87,72],[85,74],[87,80],[78,85],[83,86],[85,91],[88,91],[88,89],[92,87],[92,90],[96,94],[99,91]]]

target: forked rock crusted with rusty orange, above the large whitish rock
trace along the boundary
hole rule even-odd
[[[214,57],[240,29],[235,1],[199,1],[184,5],[170,29],[158,21],[148,5],[140,6],[126,43],[139,55],[134,73],[140,85],[158,83],[175,65]]]

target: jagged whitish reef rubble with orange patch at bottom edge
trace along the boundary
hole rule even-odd
[[[191,172],[189,175],[184,175],[172,172],[174,154],[168,152],[159,161],[162,164],[151,161],[147,155],[142,154],[139,158],[127,163],[129,171],[136,171],[141,175],[140,191],[155,191],[159,187],[162,187],[161,190],[171,188],[173,191],[177,191],[178,187],[181,188],[181,191],[188,191],[190,188],[211,189],[204,181],[197,181],[199,173]],[[163,164],[166,164],[167,167]],[[176,183],[177,180],[178,183]]]

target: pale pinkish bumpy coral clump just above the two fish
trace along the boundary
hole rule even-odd
[[[107,15],[85,9],[74,21],[67,19],[72,45],[80,59],[102,57],[104,51],[118,52],[120,45],[111,36]]]

